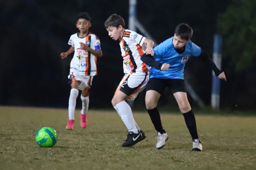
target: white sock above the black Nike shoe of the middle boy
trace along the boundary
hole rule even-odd
[[[120,103],[117,103],[114,108],[116,109],[117,113],[121,117],[128,131],[132,131],[133,133],[138,133],[138,129],[136,128],[136,124],[132,116],[131,107],[125,101],[122,101]]]

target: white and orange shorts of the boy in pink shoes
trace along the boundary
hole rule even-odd
[[[78,89],[81,91],[88,92],[92,85],[93,76],[82,76],[77,72],[70,72],[70,75],[68,75],[68,79],[69,84],[71,84],[73,81],[80,81],[81,83]]]

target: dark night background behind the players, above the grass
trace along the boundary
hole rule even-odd
[[[245,14],[256,8],[253,0],[247,2],[251,4],[244,7]],[[221,82],[220,107],[254,110],[256,68],[253,63],[256,55],[250,52],[255,50],[253,36],[256,35],[256,24],[252,19],[255,14],[245,15],[239,9],[240,4],[245,4],[245,1],[137,0],[137,18],[157,43],[172,37],[177,24],[188,23],[194,30],[191,40],[211,56],[213,35],[221,33],[222,69],[228,81]],[[100,38],[103,52],[103,57],[98,59],[98,76],[94,77],[90,92],[90,108],[111,108],[111,98],[123,76],[123,69],[119,42],[108,37],[104,21],[117,13],[124,18],[128,28],[128,7],[128,0],[1,1],[0,105],[68,107],[70,86],[67,76],[73,54],[61,59],[60,53],[70,48],[67,44],[70,35],[78,31],[75,27],[76,15],[85,11],[91,17],[90,31]],[[228,10],[231,12],[228,13]],[[241,17],[241,20],[233,20],[233,15],[237,19]],[[247,28],[250,28],[249,32],[241,31]],[[241,35],[236,35],[236,32],[241,32]],[[248,37],[252,37],[250,41]],[[231,41],[232,38],[237,41]],[[237,42],[236,46],[233,42]],[[250,48],[246,48],[248,46]],[[241,53],[236,49],[240,49]],[[240,58],[244,59],[243,62],[239,61]],[[190,59],[186,63],[185,80],[191,83],[207,106],[211,104],[211,74],[210,66],[200,58]],[[139,94],[134,106],[145,108],[144,97],[145,92]],[[188,97],[192,107],[198,107]],[[177,104],[167,92],[159,105]],[[77,107],[81,107],[79,97]]]

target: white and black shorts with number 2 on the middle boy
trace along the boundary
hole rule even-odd
[[[120,81],[115,93],[117,91],[122,91],[126,94],[128,99],[134,100],[139,92],[143,91],[149,81],[149,73],[132,73],[125,74]]]

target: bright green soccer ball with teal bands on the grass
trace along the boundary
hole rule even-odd
[[[57,140],[56,131],[51,127],[42,127],[36,133],[36,142],[41,147],[53,147]]]

